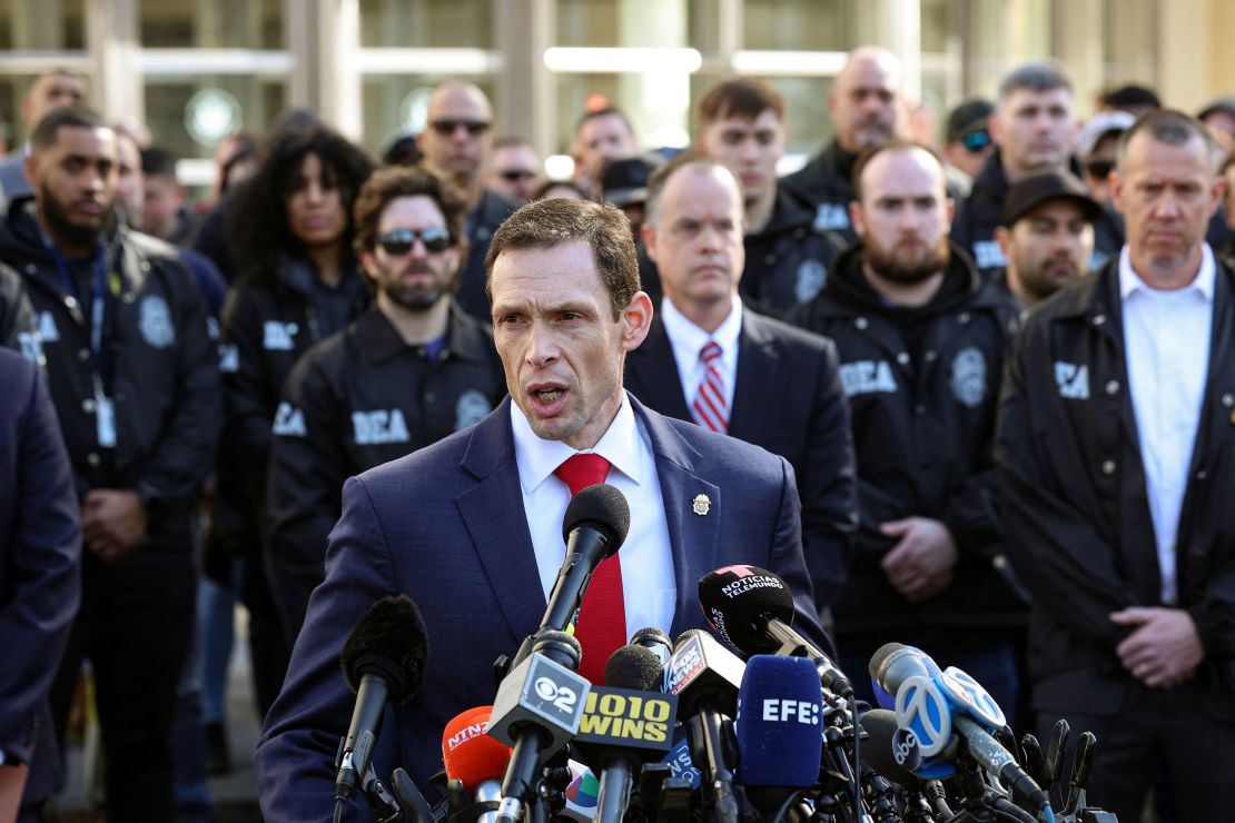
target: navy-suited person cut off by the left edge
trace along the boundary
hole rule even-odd
[[[38,366],[0,349],[0,818],[20,821],[62,782],[47,695],[82,592],[82,521]]]

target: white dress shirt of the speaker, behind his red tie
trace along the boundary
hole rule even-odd
[[[553,471],[578,453],[561,440],[537,437],[516,403],[510,403],[510,423],[515,436],[515,463],[524,494],[524,512],[547,601],[566,558],[562,517],[571,502],[571,490]],[[619,550],[626,640],[648,626],[668,632],[677,602],[669,527],[664,518],[652,440],[642,422],[635,417],[625,392],[618,416],[590,452],[609,460],[611,468],[605,482],[621,491],[630,503],[630,532]]]

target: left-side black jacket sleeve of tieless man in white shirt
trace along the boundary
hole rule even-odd
[[[1053,380],[1045,375],[1049,363],[1045,331],[1031,325],[1008,364],[995,433],[1005,548],[1036,610],[1083,642],[1114,651],[1126,629],[1108,616],[1131,606],[1132,592],[1115,568],[1114,547],[1072,503],[1066,478],[1042,459],[1045,444],[1071,436]]]

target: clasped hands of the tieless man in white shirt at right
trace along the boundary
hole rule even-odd
[[[1110,622],[1137,627],[1115,653],[1124,668],[1150,689],[1171,689],[1192,680],[1205,658],[1197,624],[1182,608],[1132,606],[1112,612]]]

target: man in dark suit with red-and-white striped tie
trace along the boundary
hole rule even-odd
[[[793,465],[802,542],[823,611],[848,576],[857,480],[836,347],[753,312],[739,297],[742,190],[720,160],[678,155],[652,175],[643,244],[664,299],[626,360],[626,386],[650,408],[761,445]],[[719,350],[714,366],[705,352]],[[709,376],[719,416],[700,410]]]

